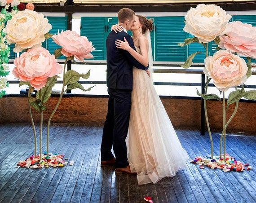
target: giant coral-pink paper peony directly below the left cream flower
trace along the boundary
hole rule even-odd
[[[29,81],[37,90],[43,88],[47,78],[60,74],[63,67],[43,47],[29,49],[14,60],[13,75],[20,81]]]

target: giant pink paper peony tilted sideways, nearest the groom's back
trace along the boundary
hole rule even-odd
[[[62,54],[65,57],[74,56],[80,62],[84,62],[84,58],[93,58],[91,52],[95,49],[92,42],[89,42],[87,37],[80,36],[75,31],[58,32],[52,38],[56,44],[62,47]]]

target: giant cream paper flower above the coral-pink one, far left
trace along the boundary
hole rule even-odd
[[[35,45],[41,46],[44,42],[44,34],[48,33],[52,26],[42,13],[29,9],[18,11],[11,20],[7,22],[5,32],[8,43],[15,44],[14,52],[30,49]]]

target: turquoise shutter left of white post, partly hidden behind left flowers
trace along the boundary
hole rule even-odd
[[[67,30],[67,16],[65,17],[47,17],[49,20],[49,23],[52,25],[52,29],[49,31],[51,34],[57,34],[58,30],[59,32],[66,31]],[[57,45],[52,38],[49,38],[42,44],[43,47],[45,47],[49,50],[51,54],[54,53],[56,49],[61,48],[59,45]],[[59,59],[65,59],[64,56],[59,57]]]

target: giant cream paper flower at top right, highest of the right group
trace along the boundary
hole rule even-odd
[[[199,4],[195,9],[191,7],[185,15],[183,30],[197,37],[200,43],[211,42],[216,36],[224,35],[228,31],[226,25],[230,18],[232,16],[219,6]]]

